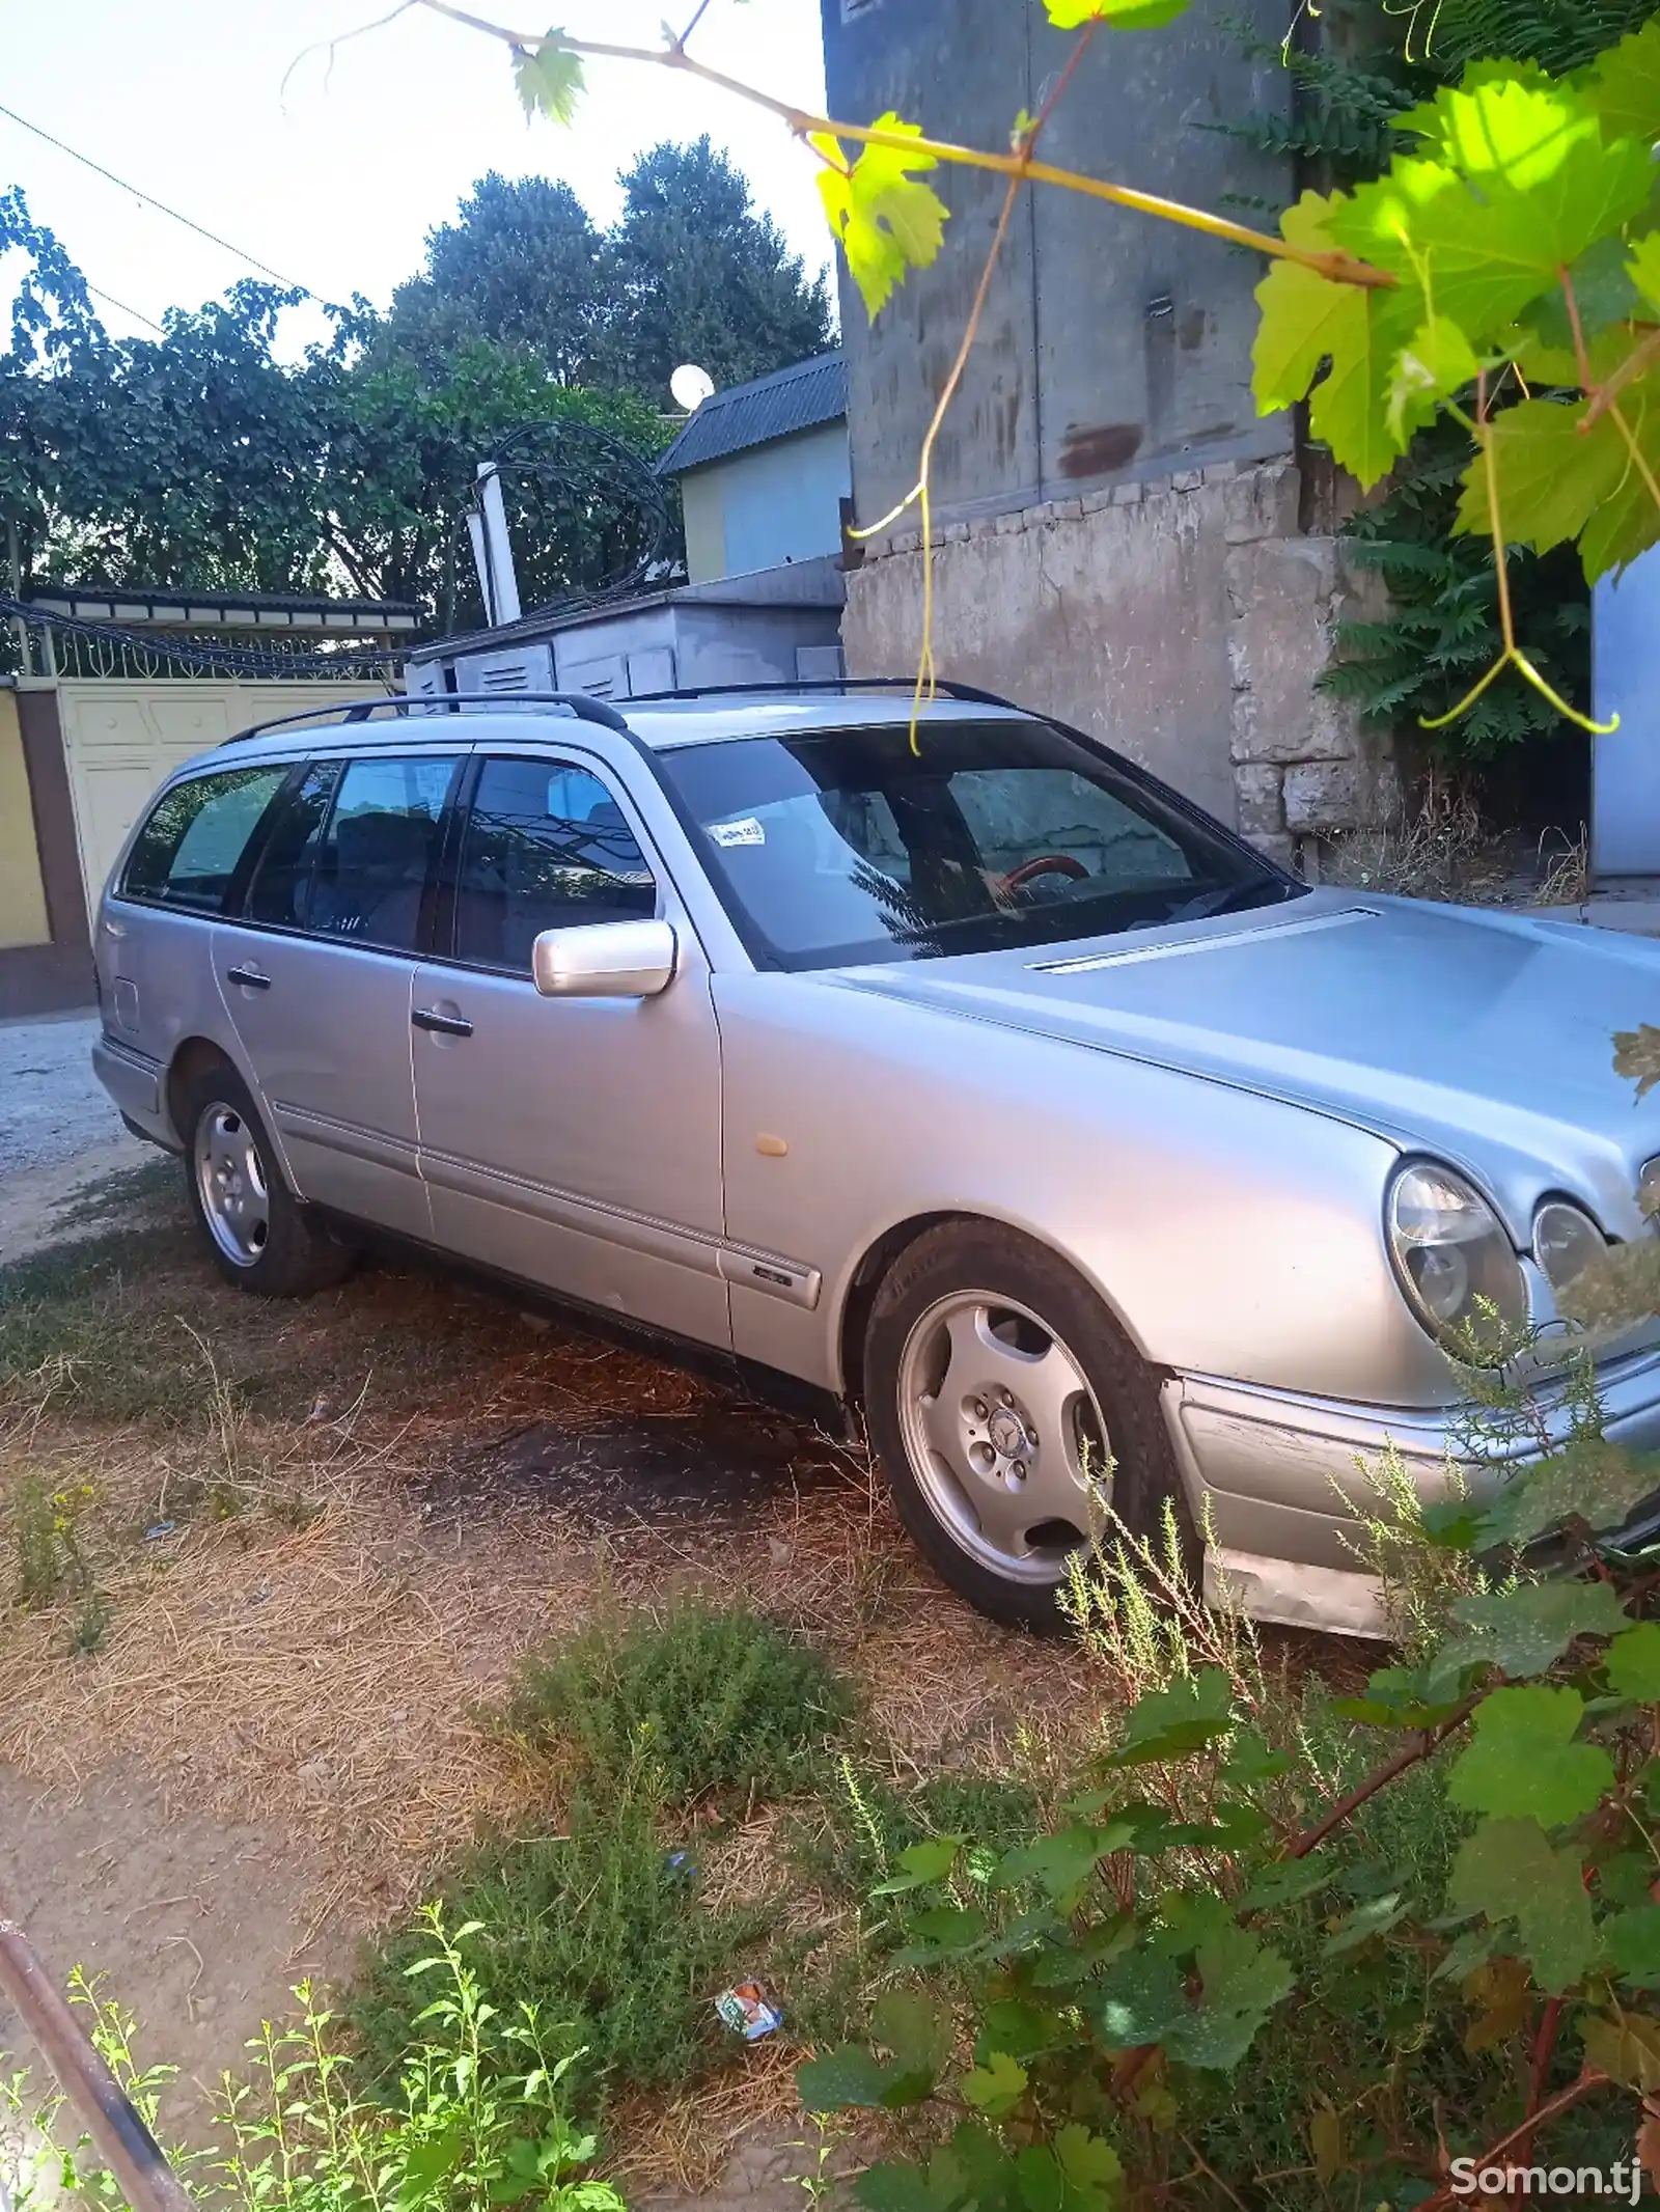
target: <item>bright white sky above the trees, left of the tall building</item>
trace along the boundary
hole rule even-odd
[[[323,299],[385,305],[476,177],[564,177],[609,221],[618,170],[660,139],[710,133],[806,257],[828,261],[812,159],[759,108],[668,71],[595,62],[571,128],[525,122],[507,51],[425,9],[325,53],[308,46],[387,0],[0,0],[0,102]],[[522,31],[551,0],[474,0]],[[675,0],[691,13],[695,0]],[[564,0],[562,29],[655,44],[664,0]],[[527,20],[529,18],[529,20]],[[823,100],[817,0],[710,0],[695,51],[803,106]],[[20,184],[115,336],[151,336],[259,274],[0,115],[0,186]],[[0,301],[15,276],[0,257]],[[124,312],[133,310],[133,312]],[[321,334],[286,319],[283,352]]]

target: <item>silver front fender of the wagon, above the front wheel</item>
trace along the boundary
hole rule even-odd
[[[958,1212],[1067,1256],[1158,1367],[1372,1405],[1456,1396],[1383,1252],[1386,1139],[826,978],[722,973],[715,1002],[726,1232],[823,1272],[815,1312],[735,1283],[739,1354],[843,1387],[863,1254]]]

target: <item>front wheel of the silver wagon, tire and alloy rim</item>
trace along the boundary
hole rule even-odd
[[[1102,1533],[1089,1475],[1107,1455],[1113,1515],[1162,1548],[1173,1502],[1197,1586],[1202,1553],[1158,1383],[1045,1245],[994,1221],[927,1230],[876,1292],[863,1376],[899,1517],[981,1613],[1040,1632],[1067,1626],[1065,1559]]]

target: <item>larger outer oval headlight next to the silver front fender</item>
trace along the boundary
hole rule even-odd
[[[1439,1161],[1410,1161],[1390,1183],[1390,1256],[1432,1336],[1467,1352],[1527,1325],[1527,1283],[1498,1214]]]

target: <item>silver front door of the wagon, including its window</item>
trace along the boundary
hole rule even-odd
[[[440,1245],[653,1327],[730,1343],[708,962],[615,763],[480,754],[445,958],[414,991],[421,1172]],[[662,916],[657,998],[542,998],[542,929]]]

